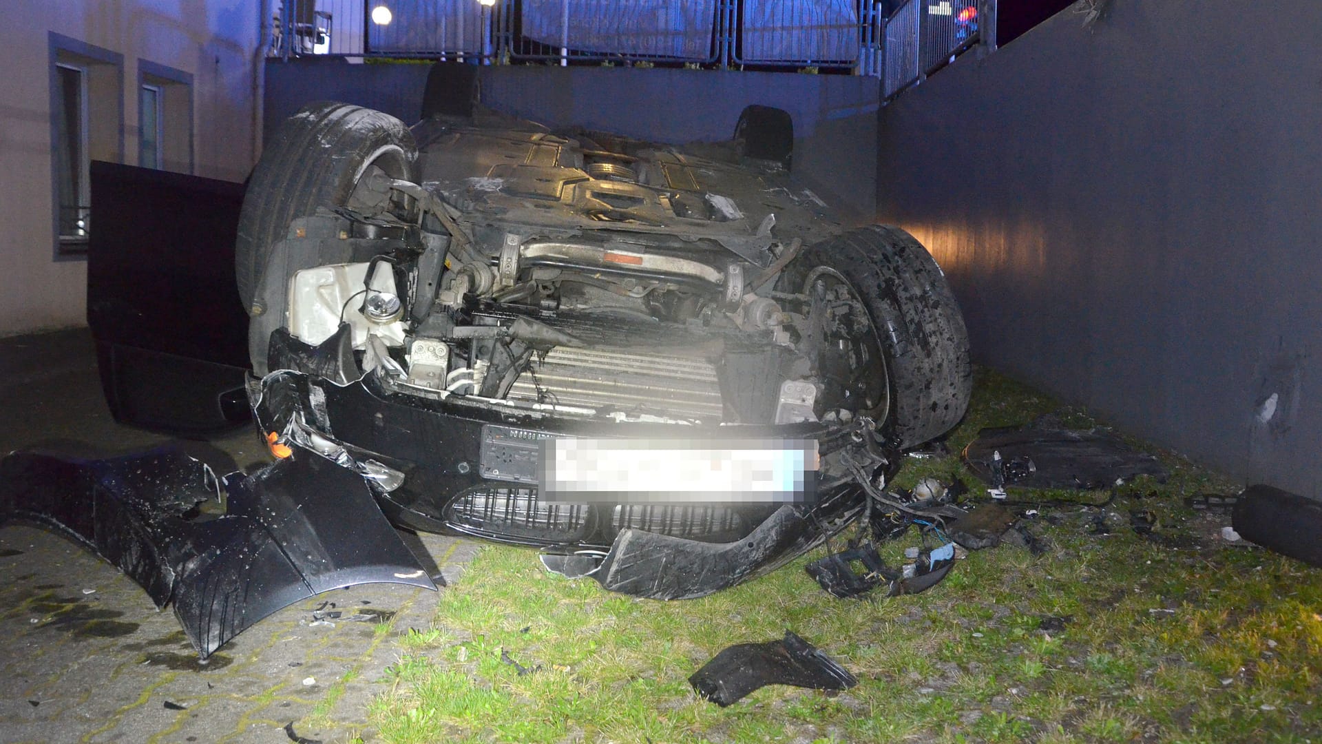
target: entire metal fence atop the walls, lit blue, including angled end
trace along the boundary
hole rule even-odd
[[[816,68],[888,98],[985,38],[995,0],[274,0],[278,57]]]

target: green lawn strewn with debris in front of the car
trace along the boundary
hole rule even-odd
[[[978,372],[958,453],[982,426],[1085,414]],[[609,594],[542,569],[533,551],[486,547],[439,596],[428,628],[398,633],[374,739],[431,741],[1313,741],[1322,743],[1322,572],[1228,547],[1228,516],[1183,506],[1236,486],[1162,455],[1166,483],[1046,494],[1030,523],[1051,548],[970,553],[927,593],[836,600],[802,567],[702,600]],[[898,486],[958,475],[907,459]],[[1011,494],[1031,500],[1043,494]],[[1151,510],[1149,537],[1130,510]],[[1095,534],[1100,519],[1110,534]],[[900,563],[911,531],[884,545]],[[1068,618],[1047,633],[1044,617]],[[861,680],[843,694],[765,687],[719,708],[687,676],[724,646],[792,629]],[[501,661],[501,653],[524,667]]]

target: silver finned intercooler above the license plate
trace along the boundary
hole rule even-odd
[[[596,409],[599,413],[719,421],[717,369],[701,357],[640,349],[555,347],[534,355],[509,400]]]

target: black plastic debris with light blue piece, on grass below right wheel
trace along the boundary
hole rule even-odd
[[[917,559],[899,571],[888,568],[871,543],[832,553],[804,567],[817,584],[833,597],[862,597],[886,585],[888,597],[917,594],[941,582],[954,565],[954,545],[945,544],[920,552]]]

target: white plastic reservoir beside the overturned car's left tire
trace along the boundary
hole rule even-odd
[[[320,344],[329,339],[340,319],[349,323],[353,348],[364,348],[368,332],[381,336],[387,346],[405,344],[405,323],[374,323],[365,318],[364,287],[369,263],[332,263],[304,269],[290,282],[290,334],[305,344]],[[371,290],[397,295],[393,271],[377,270]]]

